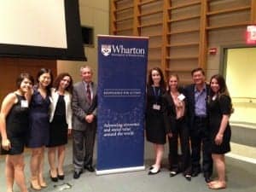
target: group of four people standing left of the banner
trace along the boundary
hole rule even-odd
[[[73,85],[68,73],[60,73],[53,81],[49,69],[42,68],[36,84],[29,73],[20,73],[17,90],[3,99],[0,112],[1,150],[6,154],[7,192],[14,182],[27,192],[24,174],[24,148],[31,148],[31,188],[47,187],[44,180],[44,150],[48,148],[49,177],[52,182],[65,177],[63,164],[67,137],[73,130],[74,178],[83,168],[94,172],[93,145],[96,135],[96,85],[92,70],[80,68],[82,81]]]

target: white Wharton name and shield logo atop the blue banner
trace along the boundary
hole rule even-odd
[[[102,44],[102,55],[108,56],[144,56],[145,49],[142,48],[125,48],[124,45]]]

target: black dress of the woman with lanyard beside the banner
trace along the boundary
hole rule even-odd
[[[166,143],[166,128],[164,120],[164,90],[160,87],[149,86],[147,91],[146,108],[146,137],[148,142],[156,144]],[[160,109],[154,108],[154,104]]]

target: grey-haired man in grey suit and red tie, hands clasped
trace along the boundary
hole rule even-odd
[[[82,81],[73,86],[73,178],[84,169],[94,172],[93,148],[96,136],[96,84],[89,66],[80,68]],[[84,169],[83,169],[84,168]]]

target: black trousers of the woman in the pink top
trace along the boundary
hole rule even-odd
[[[177,132],[169,137],[169,165],[172,172],[190,172],[189,129],[184,119],[177,119]],[[182,154],[177,153],[178,138]]]

